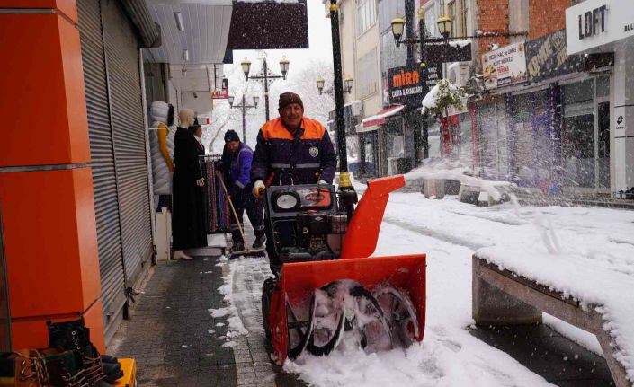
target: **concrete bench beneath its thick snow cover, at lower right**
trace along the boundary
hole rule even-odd
[[[485,259],[473,255],[472,315],[478,325],[515,325],[541,323],[541,312],[594,333],[603,349],[603,356],[618,387],[631,387],[626,370],[617,361],[615,343],[603,330],[601,305],[581,304],[558,292],[500,269]],[[599,308],[601,310],[601,308]]]

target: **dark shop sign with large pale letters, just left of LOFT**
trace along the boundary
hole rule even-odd
[[[526,63],[531,82],[584,70],[581,56],[567,55],[566,30],[526,42]]]

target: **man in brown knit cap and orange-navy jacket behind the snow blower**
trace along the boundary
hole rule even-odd
[[[294,92],[280,94],[278,112],[280,117],[266,122],[257,135],[251,165],[254,196],[263,198],[266,186],[331,184],[337,159],[326,128],[304,117],[304,103]],[[266,224],[266,252],[275,274],[280,271],[281,259]]]

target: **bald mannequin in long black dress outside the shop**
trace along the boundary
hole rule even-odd
[[[187,249],[207,246],[205,229],[204,185],[198,141],[191,127],[194,112],[183,109],[179,112],[180,126],[174,135],[174,208],[172,216],[172,238],[174,256],[172,259],[191,260]]]

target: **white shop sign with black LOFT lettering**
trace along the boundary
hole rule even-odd
[[[568,55],[634,37],[631,0],[586,0],[566,10]]]

